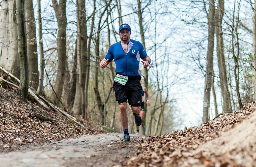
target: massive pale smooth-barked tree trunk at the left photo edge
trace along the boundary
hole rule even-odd
[[[18,31],[15,0],[4,0],[1,6],[1,60],[0,65],[20,79]]]

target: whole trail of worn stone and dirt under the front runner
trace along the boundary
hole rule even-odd
[[[33,145],[23,151],[0,154],[0,166],[78,167],[122,166],[134,156],[136,145],[146,136],[132,135],[128,143],[119,142],[122,134],[105,133]]]

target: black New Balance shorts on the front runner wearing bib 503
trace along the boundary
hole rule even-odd
[[[141,84],[140,84],[140,75],[138,76],[128,76],[128,81],[125,85],[114,82],[113,84],[116,101],[118,104],[128,103],[131,106],[139,107],[142,102],[142,92],[141,92]]]

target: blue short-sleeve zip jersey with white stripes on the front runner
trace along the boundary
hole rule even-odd
[[[147,57],[143,45],[139,41],[130,40],[127,43],[127,54],[122,48],[121,41],[110,46],[105,59],[111,62],[115,60],[116,73],[125,76],[135,76],[139,74],[140,58]]]

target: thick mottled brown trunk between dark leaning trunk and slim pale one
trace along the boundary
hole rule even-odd
[[[36,21],[34,16],[33,0],[25,0],[25,7],[29,64],[29,86],[37,90],[39,72],[37,58]]]

